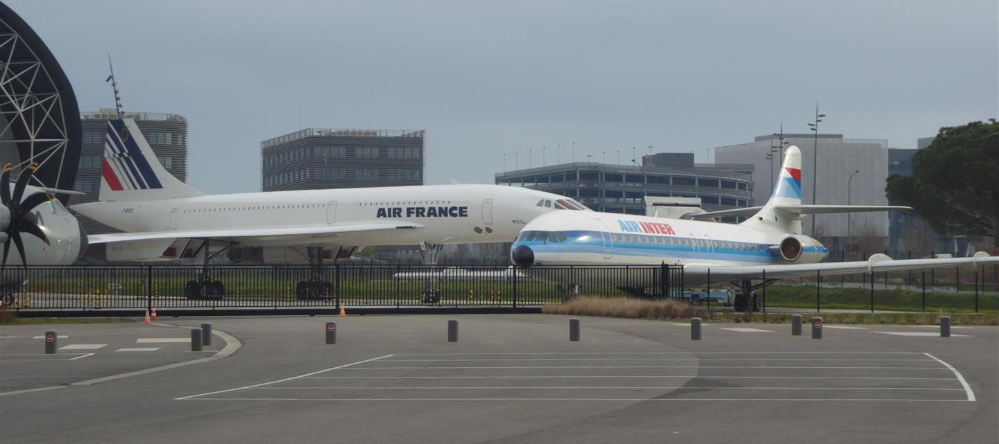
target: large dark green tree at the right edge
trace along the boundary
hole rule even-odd
[[[999,233],[999,123],[940,129],[912,157],[912,176],[888,178],[888,200],[912,207],[945,235]],[[999,245],[996,245],[999,246]]]

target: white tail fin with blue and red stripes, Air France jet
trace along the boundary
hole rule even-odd
[[[201,195],[163,168],[134,120],[108,121],[99,201],[156,201]]]

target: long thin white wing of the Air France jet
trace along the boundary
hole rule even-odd
[[[414,229],[423,225],[411,222],[361,222],[332,225],[260,226],[251,228],[168,229],[163,231],[113,232],[91,234],[92,243],[127,242],[151,239],[201,238],[240,241],[248,238],[322,237],[347,232],[378,231],[388,229]]]

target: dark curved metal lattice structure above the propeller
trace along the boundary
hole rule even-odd
[[[31,185],[71,190],[80,135],[66,74],[34,30],[0,3],[0,163],[13,165],[14,178],[38,164]]]

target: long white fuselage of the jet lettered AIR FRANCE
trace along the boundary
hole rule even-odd
[[[402,245],[511,241],[533,218],[552,211],[542,199],[565,199],[494,185],[443,185],[209,195],[73,206],[126,232],[412,222],[414,229],[260,236],[243,246]],[[572,212],[575,213],[575,212]]]

